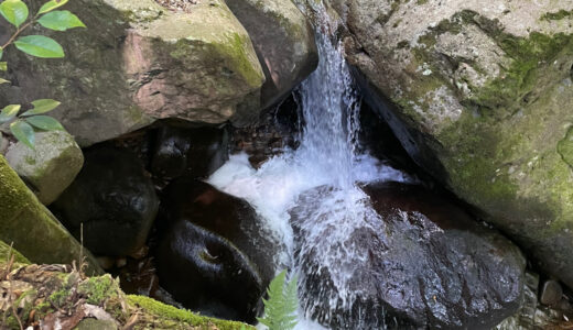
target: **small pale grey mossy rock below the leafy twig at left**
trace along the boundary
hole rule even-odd
[[[18,142],[6,158],[44,205],[50,205],[72,184],[84,165],[74,136],[65,131],[37,132],[35,150]]]

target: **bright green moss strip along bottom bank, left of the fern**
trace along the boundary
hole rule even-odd
[[[240,330],[255,329],[241,322],[224,321],[208,317],[202,317],[191,311],[175,308],[149,297],[128,296],[130,305],[138,306],[147,312],[152,314],[158,319],[160,329],[173,327],[175,329],[188,329],[188,327],[199,327],[201,329],[210,329],[210,326],[217,327],[219,330]],[[162,328],[164,327],[164,328]]]

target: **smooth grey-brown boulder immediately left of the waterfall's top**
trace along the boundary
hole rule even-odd
[[[267,78],[261,105],[286,96],[318,64],[314,30],[291,0],[228,0],[252,38]]]

